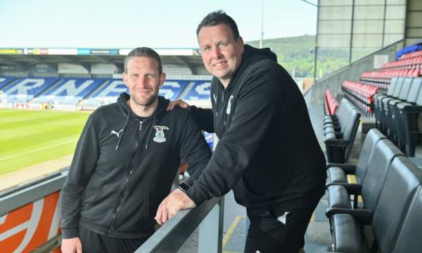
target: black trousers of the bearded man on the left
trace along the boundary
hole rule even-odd
[[[134,239],[110,238],[106,235],[89,231],[82,226],[79,226],[79,238],[82,242],[83,253],[132,253],[148,239],[148,237]]]

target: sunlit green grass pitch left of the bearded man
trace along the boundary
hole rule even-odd
[[[0,110],[0,174],[75,151],[89,112]]]

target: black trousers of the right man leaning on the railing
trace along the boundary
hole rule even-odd
[[[269,210],[260,216],[248,214],[250,226],[245,252],[298,253],[305,246],[305,232],[314,209],[276,213]]]

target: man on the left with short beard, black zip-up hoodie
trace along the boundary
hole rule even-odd
[[[77,143],[62,190],[62,251],[134,252],[153,233],[181,157],[197,179],[210,148],[186,110],[167,112],[165,82],[151,48],[124,59],[117,103],[93,112]]]

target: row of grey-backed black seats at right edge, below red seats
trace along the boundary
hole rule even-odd
[[[374,96],[376,127],[404,153],[415,155],[422,141],[418,116],[422,112],[422,78],[394,78],[387,94]]]

